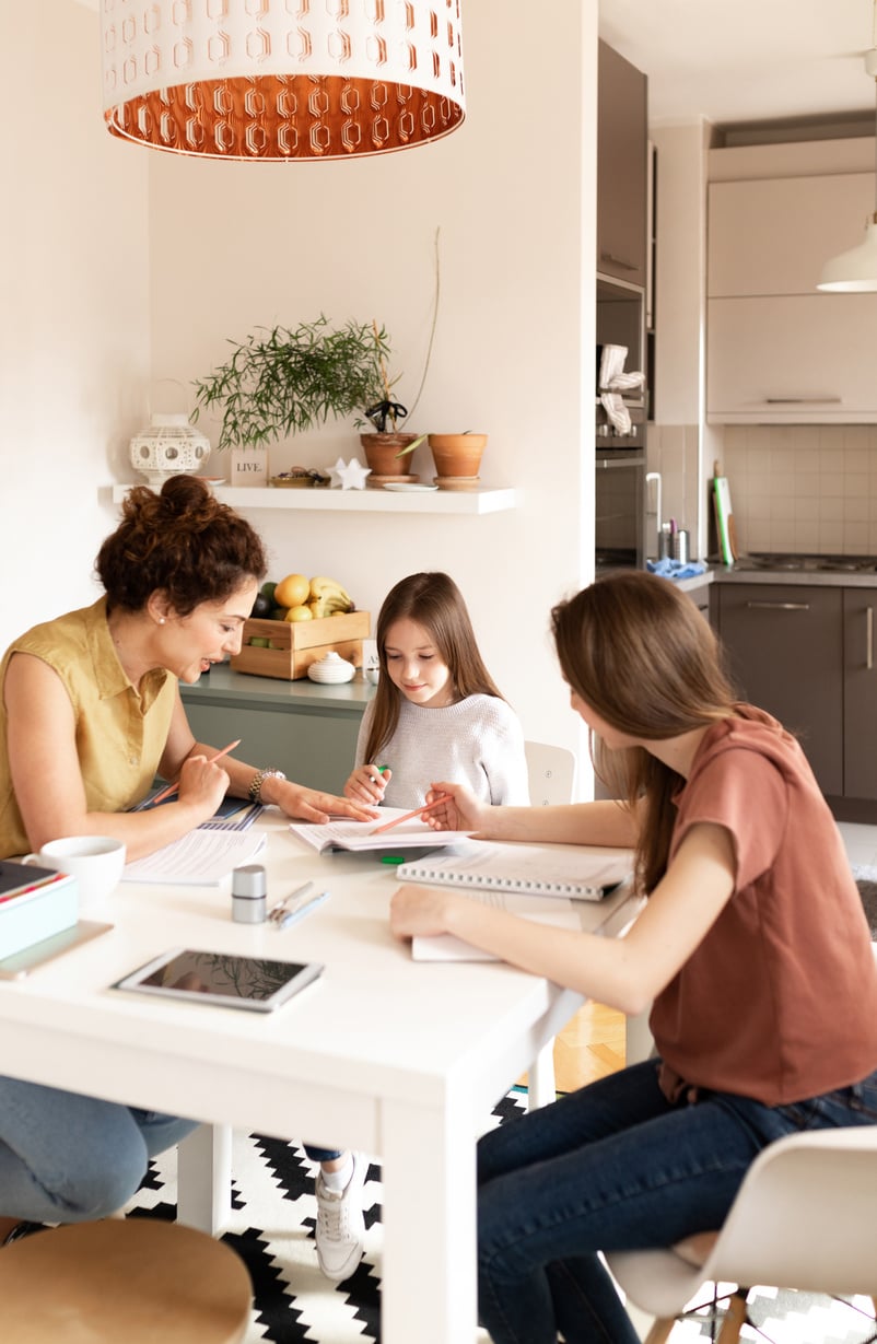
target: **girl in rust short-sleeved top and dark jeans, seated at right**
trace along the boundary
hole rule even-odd
[[[740,704],[666,579],[615,573],[555,607],[572,708],[618,802],[490,808],[453,781],[432,825],[630,845],[623,939],[402,887],[399,937],[453,933],[625,1013],[657,1058],[481,1140],[479,1308],[494,1344],[637,1344],[598,1253],[721,1227],[767,1144],[877,1122],[877,969],[843,843],[796,743]]]

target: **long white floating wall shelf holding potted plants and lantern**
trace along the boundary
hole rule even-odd
[[[133,481],[113,487],[113,503],[120,504]],[[137,482],[140,484],[140,482]],[[347,513],[501,513],[517,508],[520,492],[510,488],[488,491],[338,491],[283,489],[278,487],[214,485],[216,497],[236,509],[301,509]]]

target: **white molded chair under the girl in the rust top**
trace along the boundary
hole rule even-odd
[[[740,1285],[719,1336],[735,1344],[756,1284],[873,1301],[874,1210],[877,1125],[810,1130],[759,1154],[701,1266],[673,1247],[612,1251],[606,1262],[626,1297],[657,1317],[646,1344],[670,1337],[701,1285]]]

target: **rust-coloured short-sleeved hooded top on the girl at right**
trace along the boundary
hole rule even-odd
[[[778,1106],[877,1068],[877,965],[800,746],[760,710],[737,715],[705,734],[670,848],[697,823],[725,827],[735,892],[655,999],[650,1025],[667,1094],[685,1082]]]

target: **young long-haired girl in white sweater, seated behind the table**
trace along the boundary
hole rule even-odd
[[[380,677],[356,745],[348,798],[418,808],[435,780],[489,804],[526,805],[521,724],[483,665],[447,574],[411,574],[377,617]]]

